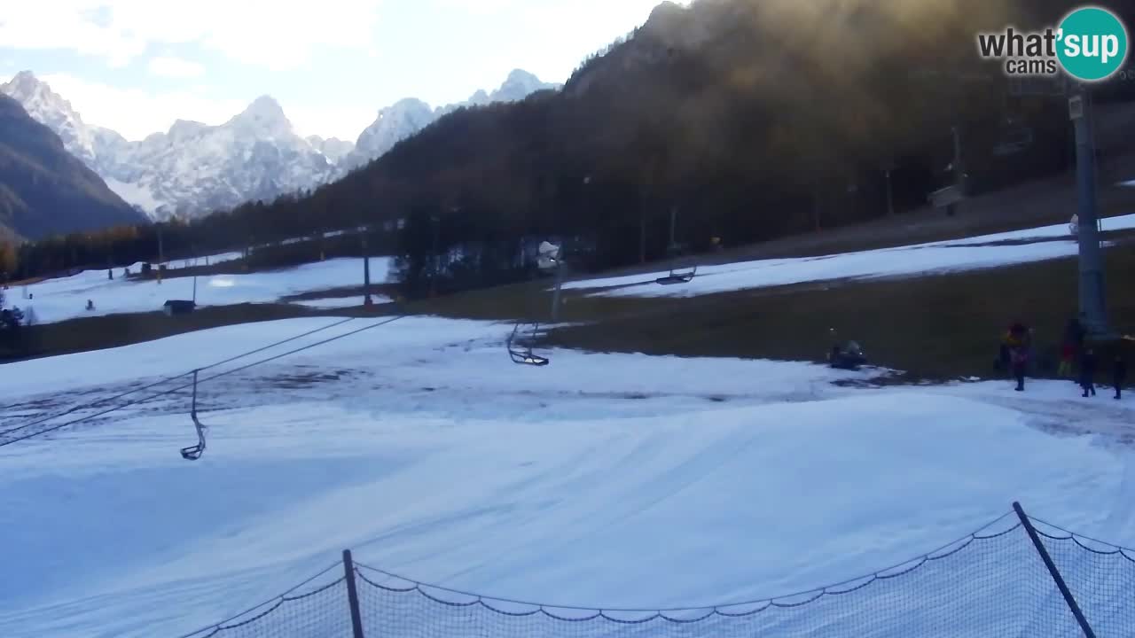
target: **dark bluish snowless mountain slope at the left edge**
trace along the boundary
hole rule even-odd
[[[67,152],[59,135],[0,95],[0,237],[34,240],[143,221]]]

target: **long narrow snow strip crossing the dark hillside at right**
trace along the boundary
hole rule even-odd
[[[1102,228],[1104,230],[1135,228],[1135,215],[1104,219]],[[892,249],[705,266],[698,268],[697,277],[692,282],[678,286],[657,285],[655,279],[667,274],[658,271],[581,279],[569,282],[563,287],[565,289],[614,288],[590,293],[595,296],[696,296],[804,282],[957,272],[1076,254],[1078,246],[1075,240],[1058,240],[1068,236],[1068,225],[1057,224]],[[998,242],[1020,243],[992,245]]]

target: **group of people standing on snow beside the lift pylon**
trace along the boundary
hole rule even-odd
[[[1093,347],[1085,343],[1087,330],[1084,328],[1079,317],[1073,317],[1065,327],[1063,341],[1060,347],[1060,366],[1057,376],[1062,379],[1075,380],[1083,394],[1081,396],[1095,396],[1095,375],[1099,371],[1099,356]],[[1033,360],[1033,329],[1026,327],[1020,321],[1009,326],[1001,339],[1002,364],[1008,364],[1012,370],[1012,376],[1017,380],[1017,392],[1025,389],[1025,375]],[[1075,375],[1074,375],[1075,371]],[[1111,361],[1111,385],[1116,391],[1115,398],[1123,396],[1123,386],[1127,381],[1127,363],[1121,354],[1116,354]]]

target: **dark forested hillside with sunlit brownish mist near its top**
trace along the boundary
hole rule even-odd
[[[1135,17],[1130,0],[1103,5]],[[885,169],[901,213],[953,182],[953,127],[975,194],[1071,166],[1066,98],[1012,94],[975,44],[980,31],[1054,24],[1068,8],[665,3],[562,91],[461,109],[338,183],[170,232],[232,246],[401,219],[411,276],[436,240],[476,245],[464,266],[490,283],[508,278],[530,237],[580,238],[592,266],[658,258],[672,210],[688,250],[884,216]],[[1126,99],[1133,84],[1094,91]]]

